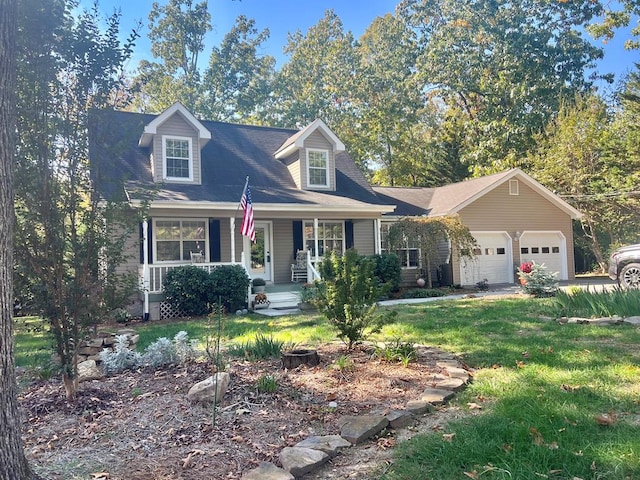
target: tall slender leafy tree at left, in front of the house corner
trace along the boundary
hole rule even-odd
[[[51,324],[69,398],[75,347],[118,291],[114,265],[128,231],[119,205],[92,188],[89,111],[113,106],[136,37],[121,45],[118,15],[103,32],[97,5],[77,17],[73,7],[72,0],[21,3],[15,204],[17,271],[32,308]]]

